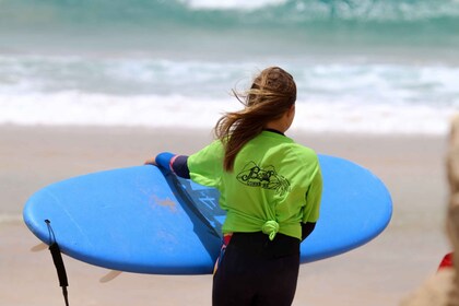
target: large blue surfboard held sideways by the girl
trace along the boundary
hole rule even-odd
[[[301,246],[303,263],[366,244],[388,225],[391,198],[380,179],[343,158],[319,155],[320,220]],[[45,244],[119,271],[211,273],[225,212],[215,189],[164,175],[155,166],[89,174],[35,192],[24,222]],[[48,221],[49,224],[47,224]],[[49,225],[49,226],[48,226]]]

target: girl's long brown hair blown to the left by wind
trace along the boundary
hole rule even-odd
[[[293,76],[279,67],[270,67],[255,78],[245,93],[233,90],[245,106],[243,110],[226,113],[215,125],[215,136],[225,149],[223,168],[233,170],[240,149],[266,128],[268,122],[281,118],[296,101]]]

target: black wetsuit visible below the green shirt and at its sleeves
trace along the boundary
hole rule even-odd
[[[190,178],[187,158],[179,155],[170,165],[184,178]],[[302,239],[315,225],[302,223]],[[262,232],[234,233],[227,246],[222,247],[212,305],[291,305],[298,278],[299,244],[299,239],[283,234],[271,242]]]

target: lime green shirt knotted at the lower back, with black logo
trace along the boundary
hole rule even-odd
[[[232,172],[223,169],[223,156],[216,140],[187,161],[193,181],[220,190],[227,211],[223,233],[264,232],[267,224],[278,224],[275,232],[302,239],[301,224],[317,222],[322,178],[313,150],[263,131],[239,151]]]

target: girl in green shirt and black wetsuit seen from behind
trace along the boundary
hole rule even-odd
[[[214,142],[190,156],[161,153],[145,164],[220,190],[227,215],[213,305],[291,305],[299,244],[319,217],[319,162],[284,136],[295,116],[290,73],[267,68],[244,95],[234,94],[245,107],[216,122]]]

